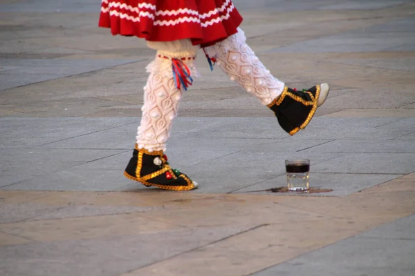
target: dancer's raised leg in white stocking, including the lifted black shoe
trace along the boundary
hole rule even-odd
[[[306,92],[287,88],[271,75],[255,52],[246,44],[241,29],[214,46],[205,48],[208,57],[216,61],[231,80],[268,106],[278,118],[280,126],[290,135],[305,128],[317,106],[326,100],[329,86],[314,86]]]

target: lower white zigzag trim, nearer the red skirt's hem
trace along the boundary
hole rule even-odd
[[[221,17],[216,17],[215,19],[211,19],[210,21],[206,21],[204,23],[201,23],[201,20],[196,17],[180,17],[175,20],[157,20],[153,22],[154,26],[174,26],[178,23],[185,23],[185,22],[194,22],[194,23],[200,23],[203,28],[206,28],[208,26],[212,26],[215,23],[219,23],[223,20],[228,20],[230,17],[230,12],[234,9],[233,4],[226,10],[226,15],[221,15]],[[108,12],[109,8],[101,8],[102,12]],[[111,16],[120,17],[121,19],[127,19],[133,22],[139,22],[140,17],[148,17],[151,19],[155,19],[154,14],[151,14],[150,12],[138,12],[138,17],[133,17],[129,14],[118,12],[116,10],[111,10],[109,12]]]

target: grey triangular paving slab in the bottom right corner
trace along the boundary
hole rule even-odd
[[[414,236],[401,233],[413,221],[414,216],[400,219],[252,275],[412,275]]]

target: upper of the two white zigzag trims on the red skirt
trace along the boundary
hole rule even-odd
[[[109,0],[102,0],[102,3],[107,3],[109,8],[101,8],[102,12],[109,12],[111,7],[114,8],[124,8],[126,10],[131,10],[131,12],[140,12],[140,9],[142,8],[147,8],[149,10],[156,10],[156,6],[151,5],[150,3],[139,3],[137,7],[133,7],[130,5],[127,5],[126,3],[120,3],[120,2],[115,2],[115,1],[111,1],[109,2]],[[157,10],[156,11],[156,16],[158,15],[163,15],[163,16],[177,16],[178,14],[192,14],[195,16],[199,16],[199,19],[205,19],[208,17],[212,17],[212,15],[217,14],[219,12],[223,12],[224,10],[226,10],[229,6],[230,0],[226,0],[225,3],[223,3],[223,5],[221,6],[221,8],[216,8],[214,10],[211,10],[210,12],[205,12],[204,14],[199,14],[199,12],[197,10],[190,10],[188,8],[179,8],[178,10]],[[233,4],[232,4],[233,6]]]

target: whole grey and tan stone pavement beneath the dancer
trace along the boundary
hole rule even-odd
[[[122,177],[154,52],[98,2],[0,3],[1,275],[415,275],[415,1],[234,0],[276,77],[332,91],[289,137],[200,55],[186,193]],[[272,193],[293,157],[332,191]]]

